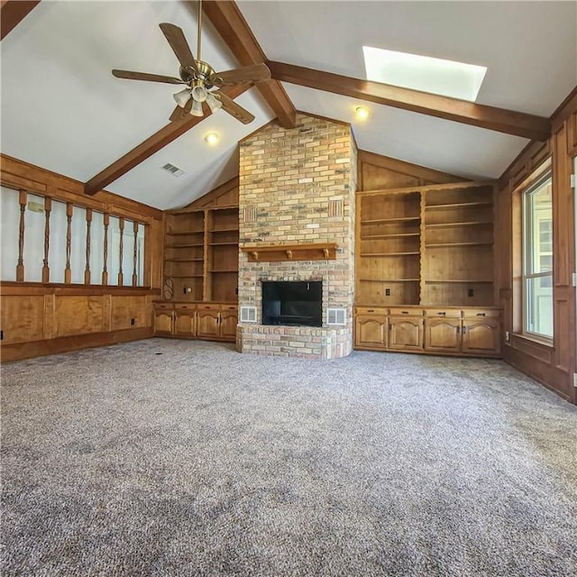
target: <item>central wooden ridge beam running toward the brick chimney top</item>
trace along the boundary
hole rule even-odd
[[[267,61],[261,45],[244,20],[236,2],[231,0],[204,2],[203,12],[208,16],[216,32],[221,35],[241,65],[249,66]],[[259,82],[255,87],[279,118],[280,125],[284,128],[294,128],[297,112],[280,82],[267,80]]]

